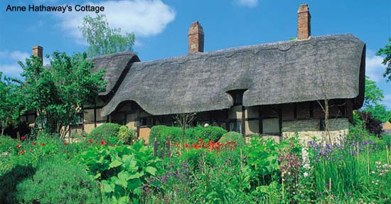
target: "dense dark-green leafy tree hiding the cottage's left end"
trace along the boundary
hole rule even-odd
[[[25,77],[23,111],[36,110],[38,124],[50,134],[65,136],[70,124],[77,122],[81,107],[94,104],[98,93],[105,90],[104,70],[91,73],[93,65],[85,53],[70,57],[55,52],[50,68],[44,68],[35,56],[19,65]]]

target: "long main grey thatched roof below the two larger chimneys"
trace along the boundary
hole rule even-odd
[[[325,85],[358,108],[364,80],[365,43],[350,34],[191,53],[132,63],[102,116],[126,101],[155,115],[228,109],[230,90],[246,90],[245,106],[322,100]]]

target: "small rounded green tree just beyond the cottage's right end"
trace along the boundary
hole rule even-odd
[[[384,99],[383,91],[377,87],[376,82],[365,76],[364,107],[373,107]]]

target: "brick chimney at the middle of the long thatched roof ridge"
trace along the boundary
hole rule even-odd
[[[203,52],[203,26],[196,21],[188,29],[188,53]]]

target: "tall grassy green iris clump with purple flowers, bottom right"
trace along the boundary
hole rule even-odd
[[[362,198],[366,202],[390,202],[390,192],[386,190],[390,187],[382,185],[390,186],[391,175],[388,172],[387,176],[380,175],[376,166],[376,163],[387,160],[386,152],[384,146],[371,139],[348,141],[333,146],[309,143],[310,161],[311,166],[314,166],[319,198],[327,198],[329,202],[334,202],[334,198],[346,200],[341,203],[351,203],[351,198]],[[390,166],[382,165],[380,171],[385,168],[390,169]],[[384,176],[382,181],[385,182],[380,184],[378,176]]]

